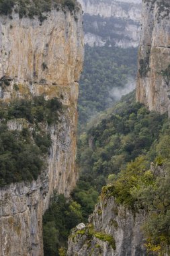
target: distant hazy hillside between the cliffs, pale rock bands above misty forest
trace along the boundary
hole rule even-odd
[[[79,0],[83,7],[85,63],[79,123],[112,106],[136,85],[140,0]]]

